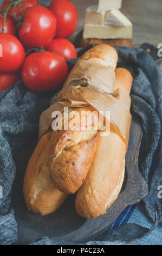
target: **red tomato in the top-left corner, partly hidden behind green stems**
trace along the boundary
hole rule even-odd
[[[12,0],[8,0],[8,1],[12,1]],[[8,3],[8,1],[4,1],[3,4],[2,4],[2,7],[1,7],[1,10],[4,10],[5,8],[8,7],[8,5],[10,3]],[[22,5],[20,5],[21,9],[24,10],[25,8],[28,8],[28,7],[31,7],[31,6],[34,6],[34,5],[37,5],[37,0],[26,0],[26,1],[22,1]],[[13,10],[14,7],[11,7],[8,11],[8,16],[15,21],[15,17],[12,13],[12,10]],[[14,10],[14,14],[20,19],[21,17],[21,9],[18,8],[18,5],[16,5],[16,8]]]

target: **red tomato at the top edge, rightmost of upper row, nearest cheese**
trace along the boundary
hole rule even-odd
[[[69,0],[53,0],[49,9],[54,13],[57,21],[56,38],[68,38],[77,26],[77,10]]]

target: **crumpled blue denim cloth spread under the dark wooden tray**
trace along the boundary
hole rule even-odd
[[[122,212],[106,233],[96,241],[89,241],[89,245],[140,244],[145,236],[157,230],[162,220],[161,199],[157,196],[158,186],[162,185],[162,72],[154,60],[138,48],[116,47],[116,50],[119,54],[118,66],[127,68],[134,78],[132,113],[139,115],[144,130],[139,170],[149,189],[140,207],[151,224],[142,225],[140,214],[137,214],[135,220],[133,216],[137,208],[134,210],[134,206],[131,206]],[[75,62],[76,59],[68,61],[69,69]],[[52,96],[51,93],[31,92],[22,82],[0,92],[0,186],[3,187],[3,198],[0,199],[0,245],[8,245],[17,240],[17,224],[14,209],[11,209],[12,183],[16,174],[14,156],[36,135],[39,117],[49,106]],[[48,237],[42,239],[37,244],[56,244]]]

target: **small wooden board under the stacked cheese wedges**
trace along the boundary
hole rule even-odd
[[[77,34],[74,45],[76,48],[85,48],[92,44],[108,44],[111,46],[128,46],[133,47],[132,39],[83,39],[83,31]]]

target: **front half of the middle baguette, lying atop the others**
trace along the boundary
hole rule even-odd
[[[91,106],[75,108],[75,113],[79,114],[75,129],[54,131],[51,136],[50,174],[55,186],[63,193],[73,194],[78,190],[93,161],[99,131],[95,129],[93,119],[86,115],[81,120],[81,114],[94,110]],[[68,123],[71,121],[72,118],[68,118]],[[87,124],[93,130],[88,130]]]

